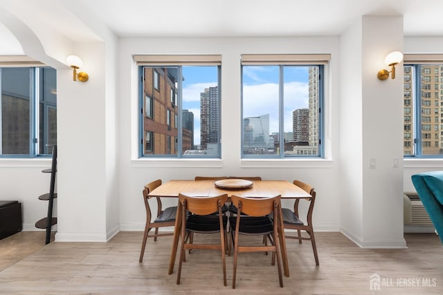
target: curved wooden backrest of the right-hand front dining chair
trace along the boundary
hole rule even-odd
[[[269,213],[273,213],[275,207],[277,209],[280,208],[280,198],[280,195],[267,198],[239,197],[233,195],[230,197],[230,200],[242,213],[248,216],[266,216]]]

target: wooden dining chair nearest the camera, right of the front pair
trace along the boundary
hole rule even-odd
[[[282,267],[280,258],[280,245],[278,243],[278,217],[280,216],[280,198],[273,196],[268,198],[239,197],[231,196],[233,204],[242,214],[230,216],[231,245],[234,246],[234,269],[233,269],[233,289],[235,289],[235,277],[237,274],[237,257],[242,252],[273,252],[272,265],[275,265],[277,258],[278,279],[280,287],[283,287]],[[244,215],[243,213],[247,214]],[[269,214],[273,213],[271,219]],[[239,245],[239,235],[262,236],[265,235],[271,245]],[[285,251],[285,250],[283,250]]]

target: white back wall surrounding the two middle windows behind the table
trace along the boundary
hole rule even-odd
[[[293,38],[125,38],[120,39],[120,222],[121,228],[142,230],[143,185],[156,178],[193,179],[195,175],[259,175],[264,179],[300,179],[316,187],[314,225],[337,231],[338,167],[338,37]],[[327,160],[241,160],[240,55],[246,53],[331,53],[326,85]],[[138,88],[134,54],[217,54],[221,66],[221,160],[137,159]],[[174,205],[177,200],[166,200]],[[290,204],[287,204],[289,206]]]

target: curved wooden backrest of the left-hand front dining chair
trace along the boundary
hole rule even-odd
[[[186,209],[198,215],[209,215],[214,212],[221,214],[221,206],[228,200],[226,193],[213,197],[194,197],[179,193],[179,200]]]

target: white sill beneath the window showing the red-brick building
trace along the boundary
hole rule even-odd
[[[154,168],[221,168],[221,159],[183,159],[183,158],[141,158],[131,161],[133,167],[154,167]]]

